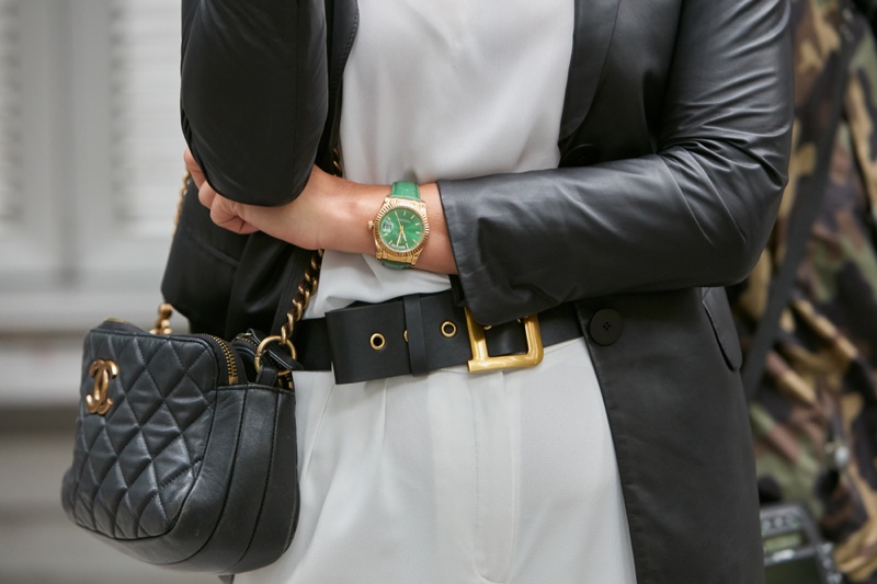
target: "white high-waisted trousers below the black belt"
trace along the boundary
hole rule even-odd
[[[298,530],[236,584],[636,582],[582,339],[532,369],[295,379]]]

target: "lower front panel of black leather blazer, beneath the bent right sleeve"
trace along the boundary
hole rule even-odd
[[[708,301],[717,308],[722,290]],[[764,582],[749,411],[702,290],[613,295],[576,307],[585,327],[602,310],[624,320],[615,343],[589,348],[637,582]]]

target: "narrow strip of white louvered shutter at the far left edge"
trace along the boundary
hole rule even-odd
[[[0,232],[21,214],[20,0],[0,0]]]

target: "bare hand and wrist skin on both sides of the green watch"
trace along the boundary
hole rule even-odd
[[[219,227],[241,234],[264,231],[309,250],[375,253],[368,221],[374,219],[389,194],[388,185],[354,183],[315,167],[305,190],[295,201],[280,207],[260,207],[225,198],[204,179],[189,149],[184,159],[198,187],[198,201],[210,209],[210,218]],[[417,267],[455,274],[438,187],[435,183],[421,185],[420,194],[429,213],[430,240]]]

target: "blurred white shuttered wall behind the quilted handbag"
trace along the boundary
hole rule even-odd
[[[81,337],[151,324],[179,185],[180,0],[0,0],[0,584],[217,582],[70,524]]]

